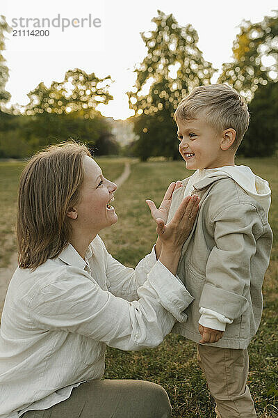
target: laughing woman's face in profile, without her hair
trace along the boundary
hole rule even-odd
[[[76,205],[76,221],[86,231],[98,233],[117,222],[115,210],[110,205],[117,186],[104,178],[100,167],[88,155],[85,155],[83,164],[84,181],[81,199]]]

